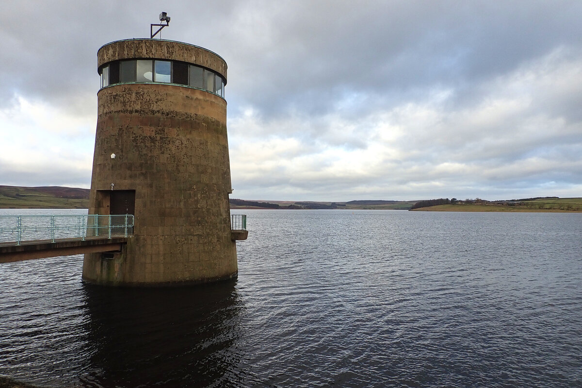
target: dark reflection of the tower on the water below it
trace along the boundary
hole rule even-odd
[[[90,365],[81,386],[236,386],[243,304],[235,285],[84,284]]]

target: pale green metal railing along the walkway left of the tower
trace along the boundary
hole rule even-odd
[[[0,245],[130,237],[133,215],[0,216]]]

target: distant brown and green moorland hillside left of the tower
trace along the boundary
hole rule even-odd
[[[0,186],[0,209],[87,209],[89,189]]]

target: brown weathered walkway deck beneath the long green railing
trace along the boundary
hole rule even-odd
[[[43,242],[37,244],[0,246],[0,263],[55,258],[91,252],[122,251],[127,237]]]

